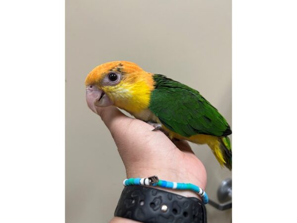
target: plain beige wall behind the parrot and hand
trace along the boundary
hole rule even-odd
[[[111,60],[136,62],[197,89],[232,126],[231,0],[66,0],[67,223],[108,222],[123,189],[115,144],[85,102],[86,75]],[[206,146],[192,147],[216,200],[231,172]],[[231,222],[231,211],[207,211],[209,223]]]

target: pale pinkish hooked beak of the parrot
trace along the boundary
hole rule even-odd
[[[107,107],[113,105],[113,102],[108,98],[108,96],[100,89],[94,86],[88,86],[86,88],[86,100],[89,108],[97,112],[96,107]]]

